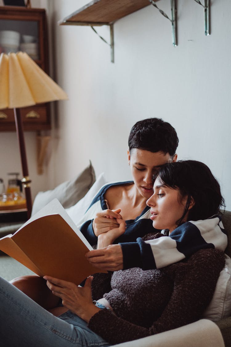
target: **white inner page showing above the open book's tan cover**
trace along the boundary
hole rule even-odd
[[[24,223],[23,226],[21,226],[16,232],[21,230],[26,225],[30,224],[32,221],[39,219],[41,217],[52,215],[52,214],[59,214],[73,229],[75,234],[79,236],[79,238],[82,240],[82,242],[88,247],[89,251],[91,251],[93,248],[89,244],[88,240],[83,236],[79,228],[75,225],[73,220],[69,217],[69,215],[66,213],[65,209],[61,205],[58,199],[54,199],[51,202],[49,202],[46,206],[44,206],[40,211],[35,213],[26,223]],[[16,234],[15,232],[15,234]],[[14,235],[15,235],[14,234]]]

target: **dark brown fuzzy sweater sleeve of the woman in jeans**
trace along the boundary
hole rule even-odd
[[[88,323],[89,328],[109,343],[119,344],[175,329],[200,319],[212,299],[216,281],[224,266],[224,254],[207,249],[197,252],[189,262],[192,266],[189,266],[186,275],[178,271],[172,296],[161,316],[150,328],[127,322],[107,309],[92,316]]]

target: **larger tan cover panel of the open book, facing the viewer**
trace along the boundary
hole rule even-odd
[[[89,263],[85,257],[88,247],[59,214],[27,223],[11,239],[36,264],[42,276],[50,275],[78,285],[91,274],[107,272]]]

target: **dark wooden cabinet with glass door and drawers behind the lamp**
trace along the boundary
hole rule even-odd
[[[18,43],[11,41],[12,32],[16,35],[19,33]],[[44,9],[0,6],[0,52],[16,51],[25,51],[48,74],[48,43]],[[50,104],[48,103],[21,108],[20,114],[24,130],[51,128]],[[15,131],[12,109],[0,110],[0,132],[3,131]]]

